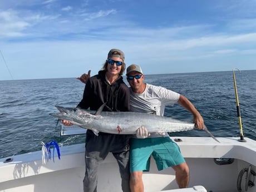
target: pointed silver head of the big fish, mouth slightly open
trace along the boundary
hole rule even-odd
[[[68,120],[75,125],[85,126],[90,124],[90,122],[93,120],[93,115],[90,112],[80,108],[61,106],[56,106],[56,108],[60,111],[60,113],[50,115],[58,117],[58,119],[61,120]]]

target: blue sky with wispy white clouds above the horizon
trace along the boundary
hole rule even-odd
[[[0,26],[0,80],[95,75],[111,48],[145,74],[256,69],[255,0],[2,0]]]

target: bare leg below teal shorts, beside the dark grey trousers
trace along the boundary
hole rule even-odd
[[[142,171],[134,171],[131,173],[130,189],[131,192],[144,192]]]

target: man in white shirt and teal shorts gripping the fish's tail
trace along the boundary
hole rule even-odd
[[[165,106],[178,102],[193,114],[196,127],[204,128],[203,118],[186,97],[164,87],[144,83],[144,75],[140,66],[130,65],[126,70],[126,78],[131,86],[130,111],[164,116]],[[137,138],[132,138],[130,142],[131,191],[144,191],[142,172],[149,171],[151,155],[156,161],[158,170],[172,167],[176,172],[179,188],[187,188],[189,184],[188,165],[180,153],[179,146],[170,139],[168,133],[148,134],[146,127],[141,126],[136,135]]]

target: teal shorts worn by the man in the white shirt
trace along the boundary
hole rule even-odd
[[[179,146],[170,137],[132,138],[130,147],[130,172],[149,171],[151,155],[159,171],[185,163]]]

